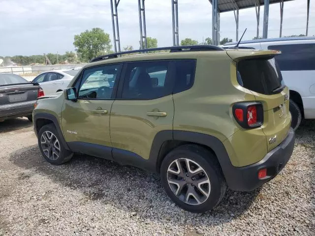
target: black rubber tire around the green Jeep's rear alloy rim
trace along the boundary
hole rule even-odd
[[[180,200],[173,193],[170,185],[168,184],[168,167],[174,160],[179,158],[188,158],[196,162],[200,167],[203,168],[209,177],[211,186],[209,197],[199,205],[189,205]],[[225,178],[223,177],[221,167],[216,156],[206,148],[202,148],[197,145],[184,145],[170,151],[162,161],[160,177],[163,188],[169,198],[179,207],[196,213],[202,213],[212,210],[214,207],[216,207],[221,202],[226,190]]]

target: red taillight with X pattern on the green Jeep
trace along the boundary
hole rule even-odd
[[[233,105],[233,116],[243,128],[259,127],[263,123],[263,108],[259,102],[239,102]]]

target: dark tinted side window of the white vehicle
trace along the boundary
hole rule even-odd
[[[282,54],[275,57],[281,70],[315,70],[315,44],[272,45],[270,50]]]

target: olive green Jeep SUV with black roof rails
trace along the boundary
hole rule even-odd
[[[292,154],[289,89],[276,55],[196,45],[93,59],[63,93],[37,99],[40,151],[54,165],[80,152],[158,173],[178,206],[210,210],[227,186],[252,191]],[[88,86],[104,77],[113,86]]]

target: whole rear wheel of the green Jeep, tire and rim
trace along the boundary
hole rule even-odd
[[[216,207],[226,190],[216,157],[205,148],[185,145],[169,152],[161,165],[161,182],[167,195],[191,212]]]

